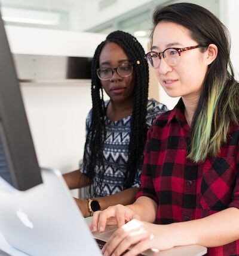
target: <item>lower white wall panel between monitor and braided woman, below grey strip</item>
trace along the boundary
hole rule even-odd
[[[76,170],[83,156],[90,82],[21,85],[39,164]]]

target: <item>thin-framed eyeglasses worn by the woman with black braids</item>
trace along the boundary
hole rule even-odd
[[[97,76],[100,80],[106,81],[111,79],[111,77],[114,75],[114,72],[116,72],[121,77],[128,77],[133,73],[133,64],[123,63],[117,68],[98,68]]]

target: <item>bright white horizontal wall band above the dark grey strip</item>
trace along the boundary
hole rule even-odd
[[[11,52],[36,55],[92,57],[106,35],[90,32],[5,26]]]

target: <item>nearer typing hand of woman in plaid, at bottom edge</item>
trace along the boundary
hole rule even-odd
[[[174,246],[173,230],[170,225],[157,225],[133,219],[123,225],[102,248],[102,253],[121,255],[130,248],[125,256],[137,255],[146,249],[156,251],[170,249]]]

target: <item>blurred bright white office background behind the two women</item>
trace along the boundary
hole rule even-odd
[[[148,51],[152,13],[168,0],[0,0],[39,164],[62,173],[78,168],[91,109],[90,62],[97,45],[117,29]],[[231,58],[239,70],[239,0],[194,0],[229,29]],[[149,98],[172,109],[149,70]],[[77,191],[75,191],[77,192]]]

